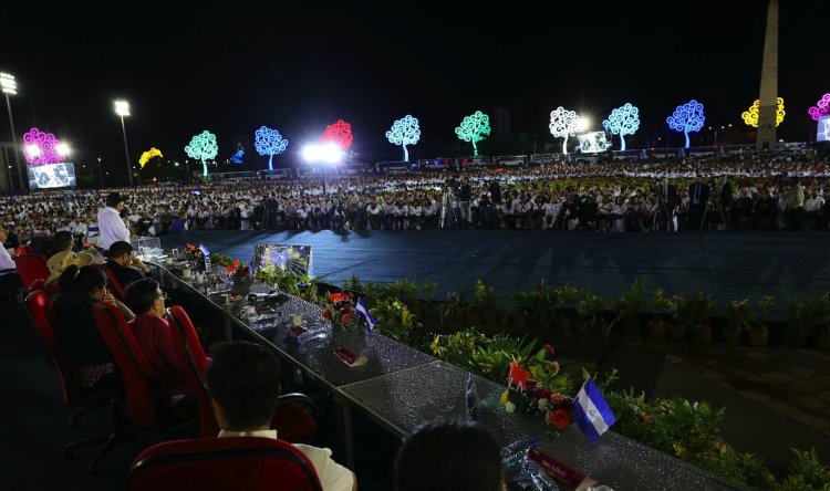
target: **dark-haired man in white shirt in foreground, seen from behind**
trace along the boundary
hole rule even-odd
[[[230,343],[214,352],[207,369],[207,387],[214,405],[219,437],[277,438],[270,428],[280,395],[280,363],[264,347]],[[294,443],[314,466],[324,491],[357,489],[357,480],[331,458],[331,450]]]

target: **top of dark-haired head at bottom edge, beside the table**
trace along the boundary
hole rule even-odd
[[[471,421],[437,419],[416,428],[395,460],[396,491],[502,491],[492,435]]]

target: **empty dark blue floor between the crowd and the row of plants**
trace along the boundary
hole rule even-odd
[[[408,278],[438,284],[436,299],[481,279],[499,291],[549,284],[616,295],[635,279],[670,294],[722,301],[830,291],[830,233],[598,233],[500,230],[194,231],[162,237],[165,248],[204,242],[214,252],[252,257],[255,243],[313,247],[313,272],[340,284]]]

